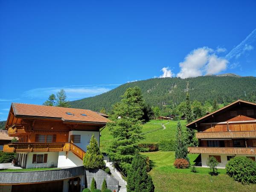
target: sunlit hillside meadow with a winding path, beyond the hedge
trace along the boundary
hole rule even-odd
[[[180,121],[183,131],[186,130],[186,121],[181,120]],[[160,140],[170,140],[175,139],[176,134],[176,127],[177,127],[177,121],[169,121],[169,120],[151,120],[145,124],[143,124],[142,132],[152,131],[158,128],[162,128],[162,125],[164,124],[166,129],[154,131],[151,133],[146,133],[143,136],[145,137],[145,140],[141,140],[140,143],[158,143]],[[100,137],[100,148],[101,151],[105,151],[105,148],[107,147],[108,143],[111,142],[113,137],[111,136],[108,128],[104,128],[101,131],[101,137]]]

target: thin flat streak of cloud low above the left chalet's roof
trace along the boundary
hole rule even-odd
[[[90,96],[96,96],[101,93],[108,92],[111,88],[106,88],[102,86],[87,86],[87,87],[46,87],[37,88],[25,91],[22,96],[28,97],[30,99],[46,99],[50,94],[56,94],[60,89],[64,89],[67,94],[67,99],[81,99]]]

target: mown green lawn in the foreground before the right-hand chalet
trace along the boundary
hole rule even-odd
[[[198,173],[190,169],[176,169],[173,166],[175,152],[156,151],[143,153],[152,161],[154,167],[150,171],[155,192],[170,191],[256,191],[256,184],[243,186],[225,174],[225,169],[218,169],[218,176],[209,175],[209,168],[197,168]],[[198,154],[189,154],[193,162]]]

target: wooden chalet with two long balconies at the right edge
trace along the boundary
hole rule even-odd
[[[189,153],[201,154],[202,166],[214,156],[219,167],[234,156],[256,157],[256,104],[238,100],[186,125],[197,130],[198,147]]]

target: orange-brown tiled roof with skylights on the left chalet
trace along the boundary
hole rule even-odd
[[[47,117],[57,118],[63,121],[77,121],[77,122],[95,122],[95,123],[107,123],[108,119],[100,114],[86,110],[75,108],[62,108],[45,105],[31,105],[23,103],[12,103],[12,108],[15,116],[34,116],[34,117]],[[72,113],[72,115],[68,115]],[[86,114],[87,116],[82,116]]]

